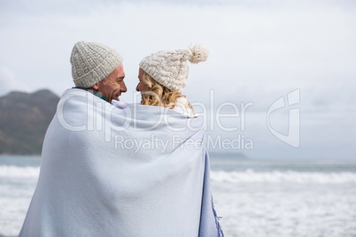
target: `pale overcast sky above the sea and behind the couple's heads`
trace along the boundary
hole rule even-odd
[[[42,88],[60,96],[74,86],[74,43],[87,41],[124,58],[121,101],[137,97],[143,57],[201,43],[210,56],[190,65],[183,94],[198,113],[206,107],[212,141],[232,144],[221,149],[356,158],[354,1],[0,0],[0,35],[0,96]],[[230,118],[216,117],[223,113]]]

